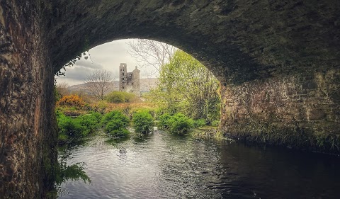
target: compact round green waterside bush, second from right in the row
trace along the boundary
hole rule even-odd
[[[142,110],[132,116],[135,132],[148,133],[153,130],[154,118],[147,110]]]

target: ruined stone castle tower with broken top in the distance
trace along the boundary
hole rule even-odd
[[[128,72],[127,64],[119,66],[119,91],[135,93],[140,96],[140,70],[137,66],[132,72]]]

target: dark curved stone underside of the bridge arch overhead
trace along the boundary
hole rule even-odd
[[[48,27],[54,67],[111,40],[147,38],[238,84],[339,65],[336,1],[58,1]]]

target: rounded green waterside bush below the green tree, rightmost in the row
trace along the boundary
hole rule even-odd
[[[193,120],[182,113],[176,113],[168,120],[170,132],[186,135],[193,127]]]

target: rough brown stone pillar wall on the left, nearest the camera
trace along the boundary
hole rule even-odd
[[[0,198],[43,198],[56,160],[39,1],[0,1]]]

